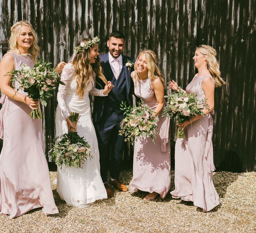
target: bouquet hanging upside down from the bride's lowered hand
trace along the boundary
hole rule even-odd
[[[69,119],[77,123],[80,115],[79,113],[70,112]],[[75,124],[76,125],[76,124]],[[90,152],[90,145],[80,137],[73,129],[68,133],[60,135],[56,138],[56,143],[49,151],[49,161],[54,161],[60,168],[64,164],[66,167],[81,168],[81,165],[87,160],[93,158]]]

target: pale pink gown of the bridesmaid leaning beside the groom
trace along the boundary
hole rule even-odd
[[[150,79],[138,80],[134,84],[134,93],[151,109],[157,107],[155,92]],[[169,143],[170,119],[158,115],[158,135],[154,139],[141,137],[134,143],[133,177],[130,182],[130,192],[138,189],[146,192],[157,192],[162,198],[166,196],[171,184],[171,159]]]

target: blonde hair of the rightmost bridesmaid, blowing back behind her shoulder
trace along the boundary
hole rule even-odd
[[[220,87],[221,85],[226,84],[226,82],[220,77],[220,68],[216,59],[216,50],[209,45],[199,45],[196,49],[205,56],[207,69],[213,77],[215,87]]]

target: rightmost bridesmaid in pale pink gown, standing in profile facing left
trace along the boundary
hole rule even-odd
[[[204,109],[205,115],[178,124],[183,126],[185,138],[176,140],[175,190],[171,194],[173,198],[193,201],[195,206],[209,211],[220,203],[212,181],[215,170],[212,148],[214,88],[225,82],[220,77],[215,49],[200,45],[193,60],[198,74],[188,84],[186,92],[196,93],[198,99],[206,98],[210,110]],[[170,88],[177,91],[177,83],[170,82]]]

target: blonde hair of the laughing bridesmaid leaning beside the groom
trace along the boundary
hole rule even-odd
[[[134,64],[134,70],[135,70],[135,74],[134,74],[134,79],[135,79],[135,85],[137,85],[138,79],[139,79],[139,74],[137,71],[137,62],[139,60],[139,57],[141,55],[144,55],[146,57],[146,61],[147,61],[147,67],[148,67],[148,78],[153,81],[155,79],[157,79],[157,77],[161,80],[164,89],[166,88],[165,85],[165,81],[162,77],[161,71],[157,65],[157,60],[156,60],[156,54],[154,51],[152,50],[144,50],[141,51],[137,57],[137,60]]]

